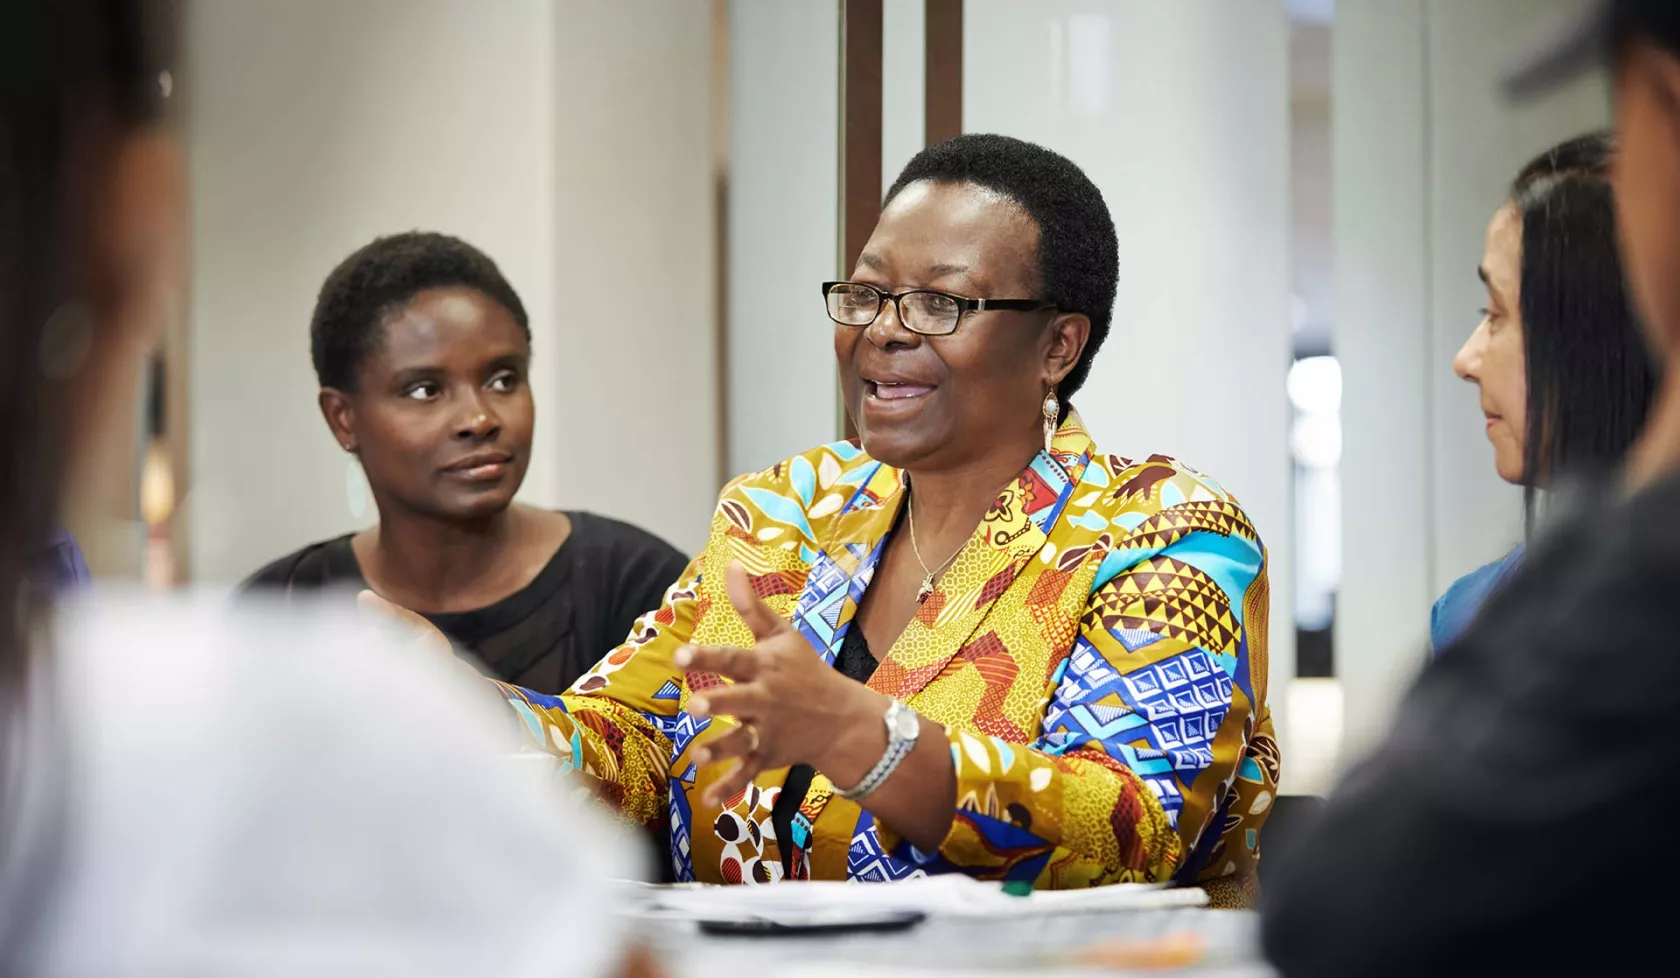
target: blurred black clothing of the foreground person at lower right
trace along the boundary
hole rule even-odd
[[[1680,479],[1542,536],[1282,852],[1273,963],[1310,978],[1672,960],[1677,642]]]

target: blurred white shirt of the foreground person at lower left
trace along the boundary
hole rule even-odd
[[[35,975],[606,973],[637,850],[511,723],[348,612],[67,607],[8,724],[0,912],[52,891]]]

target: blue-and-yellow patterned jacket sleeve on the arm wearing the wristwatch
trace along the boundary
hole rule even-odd
[[[1099,565],[1038,741],[953,729],[953,828],[937,854],[894,840],[897,855],[1038,887],[1194,877],[1208,862],[1203,830],[1221,835],[1238,766],[1255,766],[1265,555],[1235,501],[1210,501],[1188,472],[1173,482],[1193,501],[1144,519]]]

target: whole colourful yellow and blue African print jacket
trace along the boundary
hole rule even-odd
[[[724,593],[754,590],[833,664],[904,502],[899,471],[852,444],[724,489],[706,551],[664,605],[566,696],[504,687],[544,749],[643,825],[667,820],[677,879],[790,875],[771,828],[786,770],[697,808],[727,765],[696,744],[727,719],[689,696],[685,642],[751,645]],[[921,872],[1079,887],[1248,879],[1277,785],[1265,707],[1265,549],[1216,482],[1171,459],[1100,455],[1070,413],[998,494],[869,686],[944,724],[958,815],[937,852],[833,793],[818,773],[793,820],[795,879]]]

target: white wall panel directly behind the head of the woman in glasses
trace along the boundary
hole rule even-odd
[[[1208,472],[1267,541],[1280,731],[1295,672],[1287,59],[1273,0],[964,7],[964,129],[1067,155],[1119,230],[1114,331],[1074,398],[1097,444]]]

